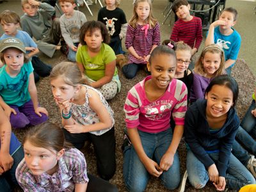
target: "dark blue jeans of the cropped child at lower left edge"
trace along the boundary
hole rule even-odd
[[[23,148],[20,147],[17,152],[13,154],[13,166],[10,170],[5,172],[0,176],[0,191],[1,192],[10,192],[13,191],[14,186],[19,186],[16,177],[15,171],[20,163],[20,161],[24,158]]]

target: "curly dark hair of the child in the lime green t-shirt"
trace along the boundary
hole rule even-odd
[[[100,21],[90,20],[90,21],[85,22],[80,29],[79,40],[82,45],[86,45],[86,42],[84,41],[84,36],[85,36],[86,32],[90,31],[90,33],[92,33],[93,31],[95,31],[95,29],[100,29],[100,33],[102,35],[103,42],[105,44],[109,44],[110,36],[108,34],[106,25],[104,25]]]

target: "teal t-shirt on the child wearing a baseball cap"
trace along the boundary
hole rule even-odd
[[[0,68],[0,95],[6,104],[20,107],[31,99],[28,86],[33,70],[31,61],[24,63],[16,77],[9,76],[6,65]]]

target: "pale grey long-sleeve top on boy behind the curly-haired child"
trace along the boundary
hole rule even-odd
[[[65,14],[60,17],[60,29],[68,47],[74,46],[79,42],[80,28],[86,22],[84,13],[74,10],[72,17],[67,18]]]

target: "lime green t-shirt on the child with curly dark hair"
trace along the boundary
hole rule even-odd
[[[84,74],[94,81],[98,81],[105,76],[106,64],[114,60],[116,60],[115,52],[109,45],[104,43],[102,43],[99,53],[93,58],[88,54],[87,45],[79,47],[76,53],[76,61],[83,63]],[[117,68],[115,68],[114,73],[114,76],[116,75]]]

